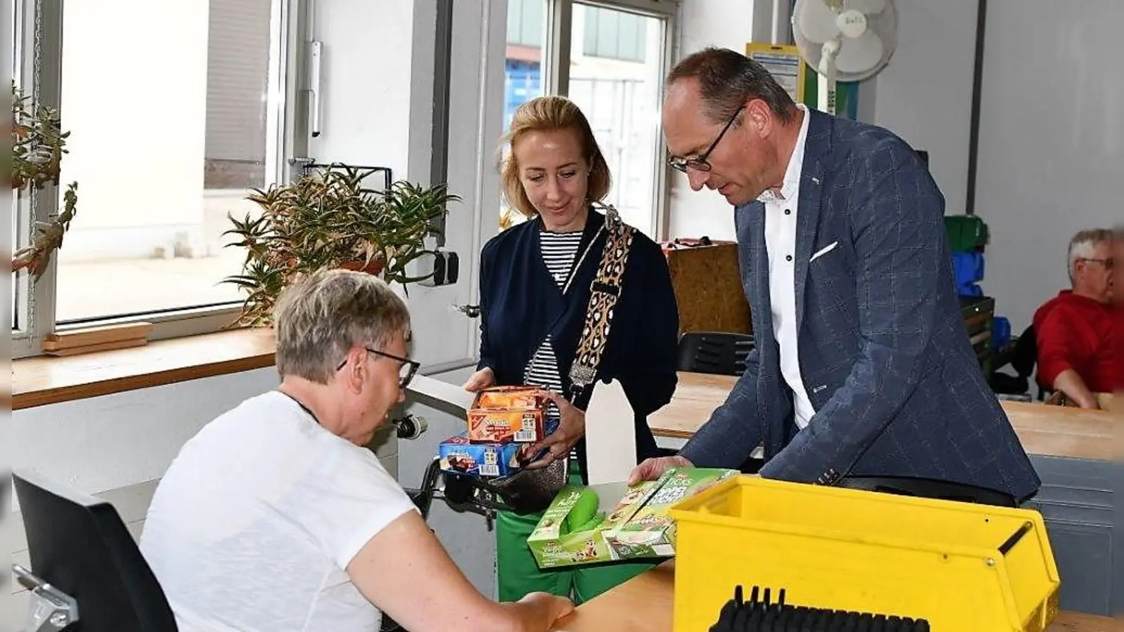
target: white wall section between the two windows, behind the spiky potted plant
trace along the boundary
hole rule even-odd
[[[310,139],[311,157],[390,166],[396,180],[429,183],[436,1],[334,0],[315,7],[312,36],[324,42],[324,125]],[[473,362],[478,351],[479,324],[452,305],[473,303],[481,209],[495,222],[492,209],[499,208],[491,153],[501,135],[507,3],[454,8],[447,181],[463,201],[450,207],[446,247],[460,256],[460,278],[455,286],[409,288],[414,356],[446,368]]]

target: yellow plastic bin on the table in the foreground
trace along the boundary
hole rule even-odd
[[[933,632],[1039,632],[1060,580],[1041,514],[738,476],[671,508],[674,632],[735,586],[786,603],[924,619]]]

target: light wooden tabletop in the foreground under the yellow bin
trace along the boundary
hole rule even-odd
[[[590,599],[561,620],[558,632],[671,632],[674,561],[664,562]],[[715,613],[717,617],[717,613]],[[1124,632],[1124,622],[1062,612],[1048,632]]]

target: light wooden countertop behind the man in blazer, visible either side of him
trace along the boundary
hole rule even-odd
[[[726,399],[737,378],[679,373],[671,403],[649,415],[656,436],[690,439]],[[1113,428],[1120,422],[1107,410],[1088,410],[1000,400],[1023,448],[1031,454],[1108,461],[1113,459]]]

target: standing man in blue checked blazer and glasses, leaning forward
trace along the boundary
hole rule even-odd
[[[960,316],[944,199],[890,132],[797,106],[758,63],[708,48],[668,78],[663,127],[691,188],[734,208],[756,349],[668,467],[738,467],[819,485],[961,484],[1006,502],[1039,478]]]

